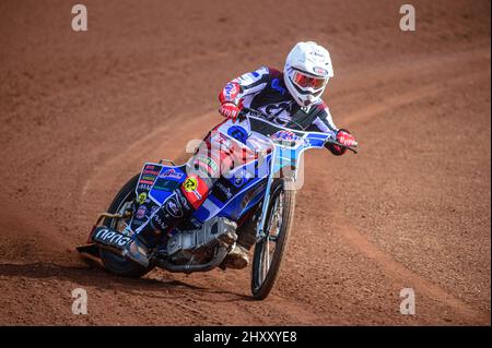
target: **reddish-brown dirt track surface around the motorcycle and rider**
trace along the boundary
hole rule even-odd
[[[490,1],[0,2],[0,324],[490,325]],[[283,2],[282,2],[283,3]],[[147,160],[221,120],[223,84],[317,40],[356,156],[306,156],[271,296],[249,272],[128,280],[74,247]],[[89,315],[71,313],[71,291]],[[402,288],[417,314],[399,312]]]

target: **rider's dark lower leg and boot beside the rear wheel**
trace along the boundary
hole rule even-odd
[[[144,267],[149,266],[150,251],[168,231],[195,211],[194,204],[187,199],[186,191],[183,191],[177,188],[149,218],[149,221],[137,229],[136,238],[124,250],[125,256]]]

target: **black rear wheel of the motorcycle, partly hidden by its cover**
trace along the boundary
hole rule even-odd
[[[118,192],[113,203],[109,205],[108,213],[124,214],[129,209],[136,199],[134,189],[140,175],[131,178]],[[131,216],[127,218],[105,218],[103,225],[121,232],[130,223]],[[131,260],[120,256],[107,249],[99,248],[99,255],[107,271],[124,277],[140,278],[152,271],[153,266],[143,267]]]

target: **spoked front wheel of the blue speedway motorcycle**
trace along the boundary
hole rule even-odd
[[[251,292],[257,300],[265,299],[273,288],[282,263],[295,207],[293,183],[274,180],[266,216],[265,238],[257,241],[253,256]]]

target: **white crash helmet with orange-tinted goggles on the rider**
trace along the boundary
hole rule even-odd
[[[289,52],[283,80],[300,106],[317,103],[332,76],[330,53],[323,46],[313,41],[297,43]]]

